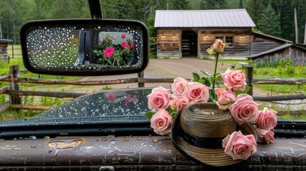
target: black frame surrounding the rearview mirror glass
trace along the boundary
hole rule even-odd
[[[139,67],[118,67],[109,66],[107,68],[101,68],[100,70],[89,69],[88,67],[80,68],[69,68],[65,69],[65,66],[54,68],[44,68],[44,67],[34,67],[31,64],[30,56],[28,55],[26,38],[29,33],[37,27],[40,26],[133,26],[139,28],[143,33],[143,61]],[[81,27],[80,27],[81,28]],[[21,27],[20,31],[21,38],[21,51],[24,60],[24,66],[26,69],[32,73],[41,73],[48,75],[60,75],[60,76],[110,76],[110,75],[120,75],[128,73],[140,73],[148,66],[148,59],[150,55],[149,46],[149,33],[148,27],[141,21],[133,20],[117,20],[117,19],[52,19],[52,20],[38,20],[29,21]]]

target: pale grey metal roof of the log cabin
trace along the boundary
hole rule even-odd
[[[160,27],[255,27],[246,9],[157,10],[156,28]]]

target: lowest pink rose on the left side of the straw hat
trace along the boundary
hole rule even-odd
[[[165,135],[170,133],[171,125],[173,123],[173,118],[165,109],[160,109],[157,113],[151,118],[151,128],[154,129],[154,132],[159,135]]]

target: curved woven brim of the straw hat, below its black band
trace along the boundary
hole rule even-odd
[[[224,152],[224,148],[203,148],[196,147],[195,145],[191,145],[190,143],[183,140],[180,135],[175,130],[180,130],[180,113],[178,112],[175,115],[173,120],[173,125],[171,128],[171,141],[173,146],[180,153],[185,155],[186,157],[191,157],[193,160],[198,162],[203,162],[207,165],[213,166],[225,166],[225,165],[233,165],[235,163],[240,162],[241,160],[233,160],[233,157],[226,154]],[[245,134],[253,134],[256,133],[255,129],[250,124],[244,124],[241,126],[242,132]]]

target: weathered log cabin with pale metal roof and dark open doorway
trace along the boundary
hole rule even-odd
[[[245,9],[158,10],[154,25],[157,58],[207,58],[206,50],[215,39],[227,43],[225,58],[257,60],[262,52],[293,45],[292,41],[252,31],[255,24]]]

